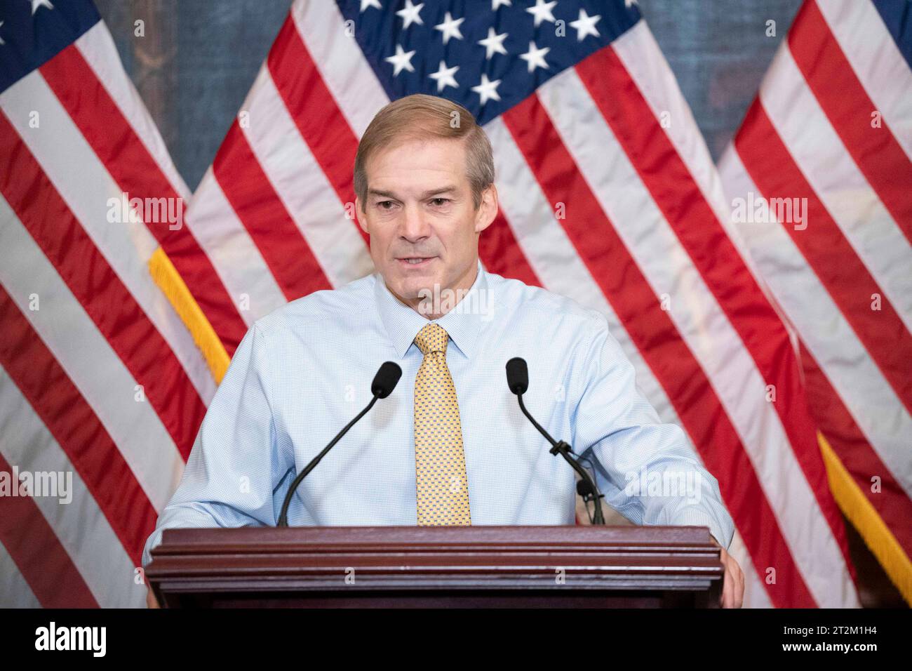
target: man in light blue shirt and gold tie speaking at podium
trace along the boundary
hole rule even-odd
[[[368,402],[385,361],[399,363],[400,383],[297,488],[289,526],[573,524],[574,471],[506,383],[518,356],[530,413],[589,457],[607,503],[638,524],[709,527],[722,547],[722,604],[740,607],[718,483],[637,391],[605,317],[482,268],[497,190],[472,114],[425,95],[390,103],[358,145],[355,191],[377,272],[248,331],[143,564],[162,529],[275,526],[295,473]],[[639,491],[644,474],[691,487]]]

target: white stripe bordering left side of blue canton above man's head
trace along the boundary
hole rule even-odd
[[[326,88],[360,138],[378,110],[389,102],[386,91],[355,38],[348,37],[345,18],[336,3],[295,2],[291,15]]]

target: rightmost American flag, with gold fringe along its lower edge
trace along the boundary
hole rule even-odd
[[[912,603],[912,5],[806,2],[720,173],[834,494]]]

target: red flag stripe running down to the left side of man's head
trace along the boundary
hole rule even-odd
[[[352,42],[352,48],[358,46]],[[316,163],[326,174],[343,204],[355,202],[352,166],[358,152],[358,137],[338,109],[336,100],[320,76],[304,40],[298,35],[291,14],[275,38],[266,58],[275,88],[285,102],[295,126],[304,138]],[[352,208],[352,212],[355,208]],[[357,213],[356,213],[357,216]],[[358,221],[351,220],[369,246],[369,236]]]

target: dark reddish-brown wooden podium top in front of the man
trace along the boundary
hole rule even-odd
[[[717,607],[706,527],[167,529],[168,608]]]

